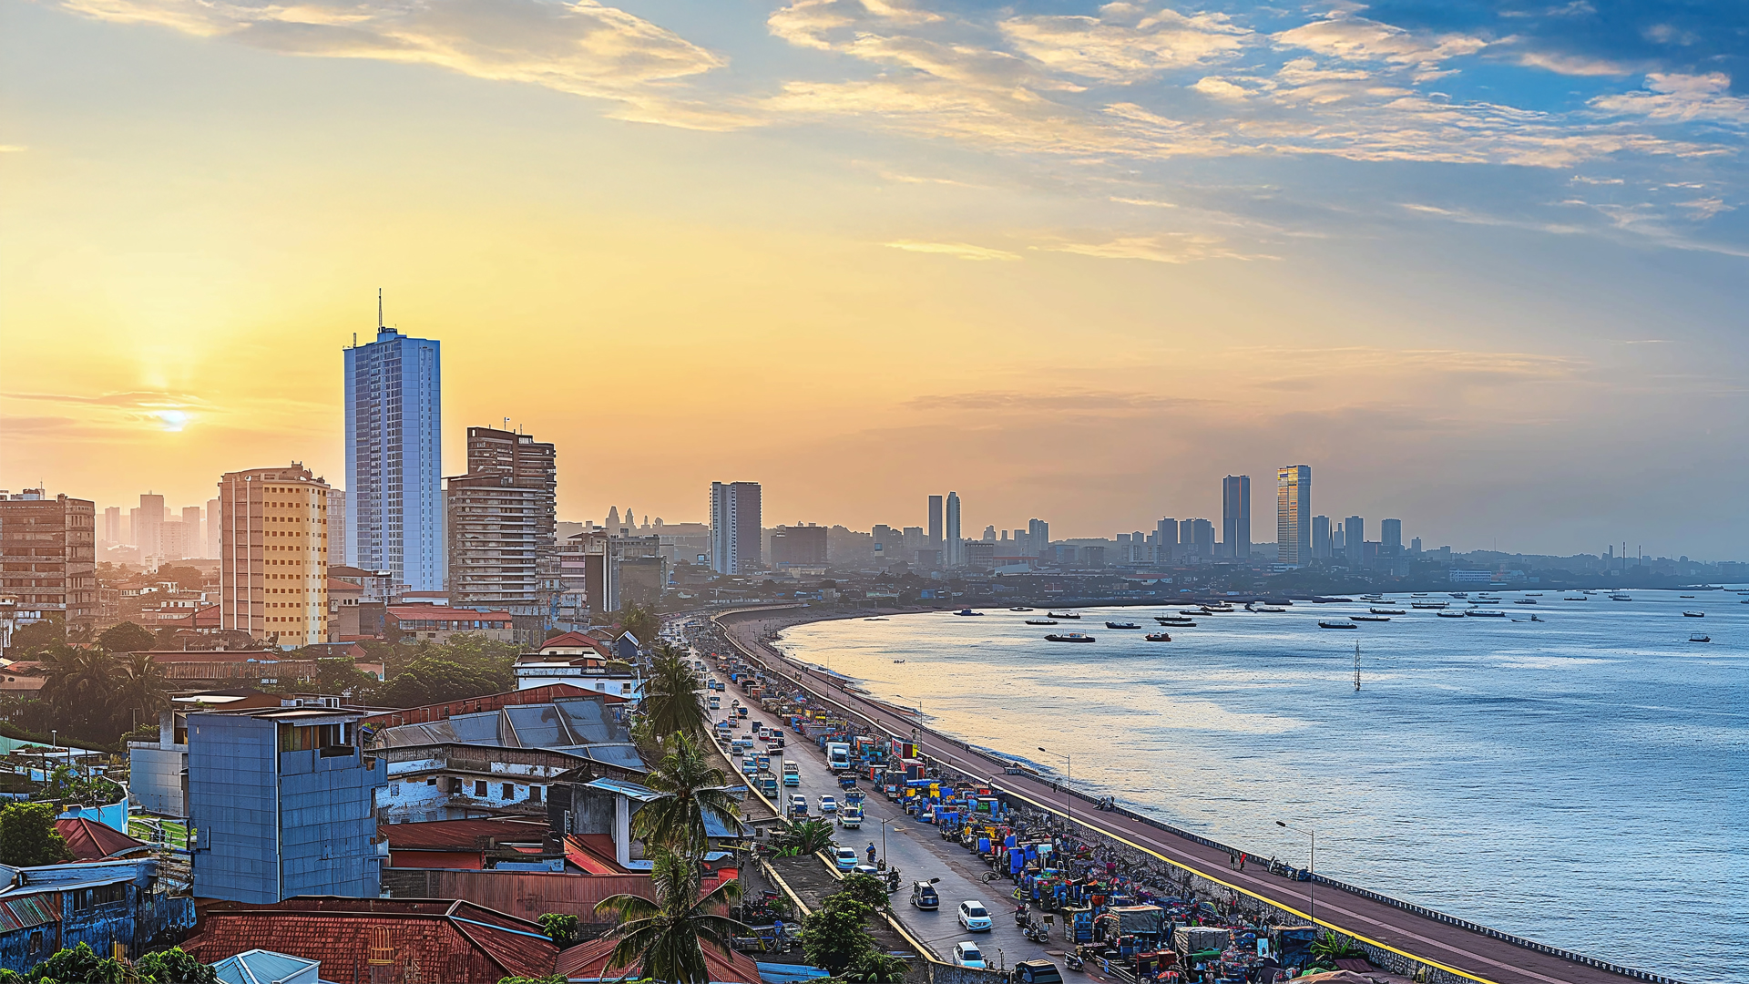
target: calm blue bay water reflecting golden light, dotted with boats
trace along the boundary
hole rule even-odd
[[[1695,984],[1749,980],[1749,595],[1571,594],[1506,592],[1488,606],[1506,618],[1462,620],[1390,595],[1406,615],[1355,630],[1317,622],[1380,602],[1233,611],[1172,643],[1142,639],[1170,608],[1023,625],[1041,608],[819,622],[780,644],[1263,858],[1308,861],[1284,819],[1317,832],[1331,877]],[[1065,630],[1097,643],[1042,641]]]

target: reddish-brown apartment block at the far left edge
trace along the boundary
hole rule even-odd
[[[59,616],[68,632],[98,616],[98,506],[42,488],[0,492],[0,594],[21,625]],[[35,616],[24,618],[31,611]]]

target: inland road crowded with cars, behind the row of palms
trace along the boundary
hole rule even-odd
[[[728,683],[724,674],[710,669],[710,676],[722,683]],[[728,716],[728,704],[740,697],[740,692],[729,685],[728,690],[715,692],[722,700],[721,711],[712,711],[712,721],[721,721]],[[747,704],[745,697],[740,697]],[[747,707],[747,721],[736,735],[745,737],[750,732],[750,721],[763,721],[770,728],[778,728],[787,739],[796,739],[796,734],[784,728],[782,723],[773,714],[766,714],[757,704]],[[826,767],[826,756],[806,739],[796,739],[792,744],[782,749],[782,755],[789,762],[796,762],[801,774],[801,786],[784,786],[784,800],[791,793],[803,793],[808,797],[808,816],[813,819],[831,819],[819,812],[820,793],[827,793],[843,802],[843,790],[838,788],[838,777]],[[771,769],[780,769],[777,763],[778,753],[771,755]],[[740,758],[731,756],[735,765],[740,767]],[[1021,959],[1039,959],[1046,956],[1046,945],[1035,944],[1021,935],[1020,928],[1014,926],[1014,902],[1009,898],[1013,884],[1007,881],[988,882],[985,875],[990,868],[978,860],[976,854],[965,851],[958,842],[948,842],[941,839],[941,833],[934,825],[918,823],[897,804],[887,802],[887,797],[869,791],[869,784],[862,783],[862,791],[868,793],[864,800],[864,819],[859,830],[845,830],[838,826],[836,842],[845,847],[854,847],[857,854],[868,858],[868,846],[873,842],[876,853],[881,847],[881,819],[887,821],[887,863],[895,865],[899,874],[904,877],[899,886],[899,893],[892,896],[894,916],[904,923],[906,930],[913,937],[930,945],[936,956],[946,959],[948,951],[953,944],[960,940],[972,940],[978,949],[985,952],[985,958],[992,966],[997,966],[1000,959],[1006,966],[1013,966]],[[782,804],[780,804],[782,805]],[[836,825],[834,825],[836,826]],[[941,909],[927,912],[911,907],[911,882],[939,877],[936,891],[941,895]],[[992,930],[988,933],[967,933],[955,910],[960,902],[978,900],[990,909]],[[1062,924],[1053,926],[1053,931],[1060,931]],[[1053,937],[1051,940],[1056,949],[1062,949],[1062,937]]]

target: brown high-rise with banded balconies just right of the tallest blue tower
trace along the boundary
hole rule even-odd
[[[467,474],[449,478],[449,604],[509,611],[518,639],[553,623],[558,576],[558,459],[553,445],[497,427],[467,429]]]

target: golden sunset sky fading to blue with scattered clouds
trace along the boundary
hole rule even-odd
[[[1266,541],[1303,462],[1746,559],[1746,79],[1709,0],[0,0],[0,485],[339,483],[383,289],[565,520]]]

